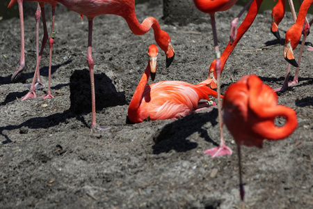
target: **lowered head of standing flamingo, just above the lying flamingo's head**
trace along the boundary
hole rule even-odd
[[[166,68],[170,67],[170,64],[174,60],[175,50],[172,47],[172,41],[170,40],[170,36],[166,31],[161,31],[159,36],[155,36],[155,40],[157,45],[163,50],[166,54]]]

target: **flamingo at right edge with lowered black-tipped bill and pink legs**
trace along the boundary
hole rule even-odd
[[[284,59],[289,63],[287,68],[286,77],[284,79],[284,84],[282,84],[282,88],[275,88],[274,91],[285,91],[287,90],[288,86],[293,86],[298,83],[298,72],[299,72],[299,65],[300,60],[303,52],[303,47],[305,44],[305,39],[307,35],[309,34],[310,26],[313,23],[313,20],[311,22],[307,22],[306,15],[307,10],[309,10],[310,6],[312,6],[313,0],[305,0],[303,3],[301,3],[300,10],[298,12],[298,17],[296,18],[295,24],[293,24],[285,35],[285,42],[284,42]],[[299,58],[298,63],[296,62],[296,59],[294,58],[294,49],[298,46],[298,42],[301,38],[301,33],[303,33],[303,40],[300,47],[299,52]],[[296,67],[296,72],[294,75],[294,80],[292,82],[288,82],[289,80],[289,71],[290,71],[290,65],[294,65]]]

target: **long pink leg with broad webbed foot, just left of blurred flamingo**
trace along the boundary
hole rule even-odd
[[[216,25],[214,15],[211,15],[211,25],[214,37],[215,54],[216,54],[216,79],[217,79],[217,93],[218,93],[218,120],[220,121],[220,146],[216,148],[211,148],[205,150],[204,153],[211,155],[212,157],[217,157],[220,155],[232,155],[232,150],[225,145],[223,136],[223,119],[222,119],[222,104],[220,103],[220,51],[218,47],[218,40],[216,36]]]

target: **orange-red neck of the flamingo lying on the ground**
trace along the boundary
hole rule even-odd
[[[136,111],[141,106],[143,91],[145,91],[145,86],[147,85],[147,80],[149,79],[149,77],[150,77],[150,63],[148,63],[147,68],[145,69],[145,72],[143,73],[143,76],[141,77],[141,80],[135,90],[133,98],[131,99],[131,102],[129,104],[129,109]]]

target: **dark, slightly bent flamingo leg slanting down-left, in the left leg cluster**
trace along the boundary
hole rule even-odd
[[[35,68],[35,73],[33,75],[33,82],[31,83],[31,87],[29,88],[29,92],[26,93],[26,95],[24,95],[24,97],[22,97],[22,100],[27,100],[30,98],[36,98],[36,94],[35,94],[35,89],[36,88],[40,88],[40,83],[36,83],[36,75],[39,74],[39,64],[40,64],[40,60],[42,58],[42,53],[43,50],[45,49],[45,44],[48,40],[48,32],[47,32],[47,25],[46,25],[46,17],[45,17],[45,7],[41,7],[41,13],[42,13],[42,23],[43,23],[43,27],[44,27],[44,36],[42,38],[42,45],[41,45],[41,49],[40,49],[40,53],[38,56],[38,61],[37,61],[37,65]]]

